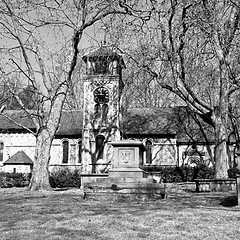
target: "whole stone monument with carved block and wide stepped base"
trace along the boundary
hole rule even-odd
[[[112,169],[108,179],[96,179],[85,183],[87,196],[115,196],[127,199],[164,198],[165,185],[153,183],[152,178],[144,178],[143,165],[145,148],[140,141],[117,141],[111,143],[114,150]],[[99,195],[100,194],[100,195]]]

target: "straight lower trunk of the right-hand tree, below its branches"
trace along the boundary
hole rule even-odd
[[[215,178],[228,178],[227,129],[220,117],[215,118]]]

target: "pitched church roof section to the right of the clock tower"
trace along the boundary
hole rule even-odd
[[[213,141],[213,128],[203,120],[198,119],[201,128]],[[205,142],[203,132],[197,122],[189,114],[187,107],[168,108],[133,108],[123,114],[120,123],[126,137],[137,135],[156,135],[159,137],[174,137],[178,142]]]

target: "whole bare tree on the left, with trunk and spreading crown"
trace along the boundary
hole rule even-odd
[[[48,164],[63,105],[72,89],[86,29],[111,14],[128,14],[118,1],[7,1],[0,4],[2,77],[31,85],[36,111],[14,94],[36,127],[30,190],[51,189]]]

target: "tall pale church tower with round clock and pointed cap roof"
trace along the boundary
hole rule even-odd
[[[83,172],[104,171],[111,162],[109,142],[120,140],[119,105],[123,89],[123,58],[101,46],[83,56],[86,75],[83,79]]]

